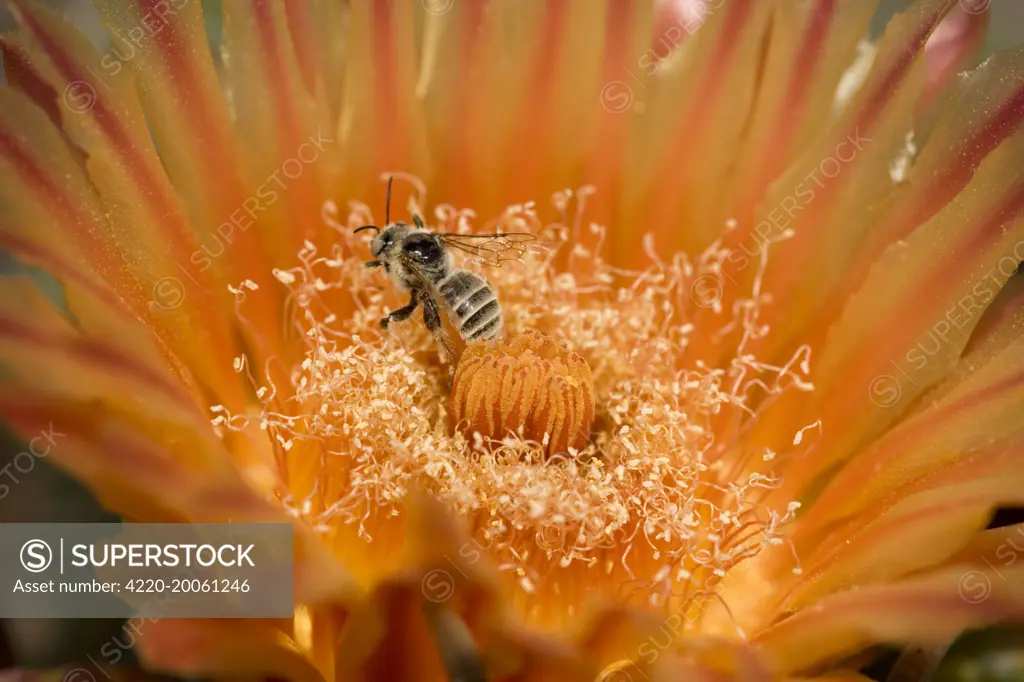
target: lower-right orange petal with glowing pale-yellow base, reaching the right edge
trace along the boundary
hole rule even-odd
[[[783,612],[836,589],[948,562],[997,506],[1018,504],[1022,452],[1021,443],[997,443],[964,455],[831,524],[827,513],[814,518],[815,505],[794,523],[790,544],[768,548],[730,574],[723,597],[750,631],[777,617],[773,609],[787,599],[794,603]],[[720,611],[712,623],[727,627],[729,614]]]

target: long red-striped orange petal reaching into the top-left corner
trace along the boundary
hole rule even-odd
[[[99,55],[52,10],[18,0],[15,16],[24,27],[19,40],[29,59],[54,92],[63,93],[65,131],[87,154],[86,171],[102,202],[99,215],[113,222],[105,230],[106,248],[125,254],[125,262],[152,292],[154,306],[176,318],[166,327],[169,345],[187,353],[189,365],[201,370],[198,376],[222,401],[240,403],[227,322],[233,301],[204,273],[188,269],[189,253],[198,246],[195,235],[164,174],[132,84],[99,80]],[[48,125],[41,112],[39,118]],[[29,184],[30,201],[74,206],[61,196],[59,179],[41,180],[52,171],[44,170],[46,159],[24,148],[34,137],[22,142],[22,148],[9,141],[12,137],[5,140],[14,177],[35,180]]]

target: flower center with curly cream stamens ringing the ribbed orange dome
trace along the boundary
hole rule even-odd
[[[521,231],[522,222],[541,230],[521,206],[500,228]],[[542,238],[557,239],[568,222]],[[323,529],[357,577],[401,567],[402,504],[415,487],[469,521],[468,554],[486,554],[512,603],[542,626],[562,626],[602,596],[689,608],[780,542],[796,505],[766,505],[776,454],[743,441],[737,424],[753,414],[753,391],[804,385],[796,363],[757,363],[741,343],[721,367],[687,367],[695,335],[720,329],[690,322],[706,303],[693,285],[707,271],[685,257],[658,260],[612,288],[624,273],[572,244],[483,270],[508,340],[469,344],[450,387],[421,324],[381,331],[379,319],[404,301],[362,268],[358,237],[342,235],[345,256],[310,247],[279,273],[305,354],[290,392],[278,387],[259,416],[284,504]],[[754,327],[757,304],[722,326]]]

